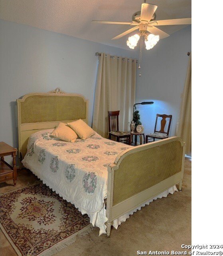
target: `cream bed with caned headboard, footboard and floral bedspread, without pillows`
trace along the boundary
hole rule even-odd
[[[140,146],[95,134],[64,142],[50,136],[58,122],[88,122],[88,101],[59,88],[26,94],[18,103],[21,164],[110,236],[133,212],[182,188],[185,143],[172,137]],[[107,200],[107,203],[105,203]]]

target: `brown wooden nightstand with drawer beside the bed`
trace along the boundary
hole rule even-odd
[[[9,146],[5,142],[0,142],[0,182],[13,180],[14,186],[16,186],[17,169],[16,169],[16,152],[17,149]],[[13,157],[13,166],[10,166],[5,160],[4,156]]]

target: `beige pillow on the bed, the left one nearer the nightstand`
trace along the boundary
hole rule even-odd
[[[68,142],[75,142],[77,139],[76,132],[72,130],[67,124],[62,122],[59,122],[57,127],[51,133],[51,136]]]

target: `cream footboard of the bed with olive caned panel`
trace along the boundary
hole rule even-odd
[[[107,235],[114,219],[179,184],[184,172],[185,143],[171,137],[120,153],[108,166]]]

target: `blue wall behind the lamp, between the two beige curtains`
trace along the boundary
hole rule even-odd
[[[181,94],[191,52],[191,26],[162,39],[142,54],[141,73],[136,81],[136,103],[154,101],[152,105],[138,105],[140,120],[146,133],[153,132],[156,114],[172,114],[170,135],[174,136],[180,110]]]

